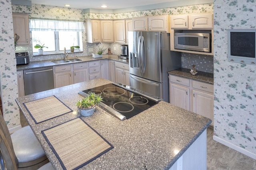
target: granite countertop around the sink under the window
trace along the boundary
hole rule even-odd
[[[74,57],[72,57],[74,58]],[[65,65],[65,64],[76,64],[76,63],[82,63],[82,62],[88,62],[88,61],[97,61],[97,60],[104,60],[104,59],[110,59],[114,61],[119,61],[122,63],[128,63],[126,60],[119,59],[118,55],[111,54],[111,55],[103,55],[102,58],[92,58],[92,56],[83,56],[83,57],[77,57],[78,59],[82,61],[76,61],[76,62],[70,62],[70,63],[61,63],[61,64],[56,64],[53,63],[52,60],[58,60],[58,59],[52,59],[52,60],[43,60],[43,61],[32,61],[28,64],[22,64],[22,65],[17,65],[17,71],[19,70],[29,70],[33,68],[43,68],[43,67],[50,67],[50,66],[60,66],[60,65]],[[71,59],[71,58],[68,58]]]

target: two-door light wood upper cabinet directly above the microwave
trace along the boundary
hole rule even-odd
[[[212,29],[213,14],[188,14],[170,16],[171,29]]]

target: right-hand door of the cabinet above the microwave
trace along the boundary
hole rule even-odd
[[[212,14],[194,14],[189,16],[190,29],[213,28]]]

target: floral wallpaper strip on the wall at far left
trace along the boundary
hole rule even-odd
[[[0,0],[0,94],[4,119],[10,128],[20,124],[20,112],[15,102],[18,88],[11,8],[10,0]]]

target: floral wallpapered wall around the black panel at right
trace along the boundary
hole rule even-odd
[[[256,66],[227,60],[227,29],[255,29],[256,1],[214,0],[214,135],[256,158]]]

